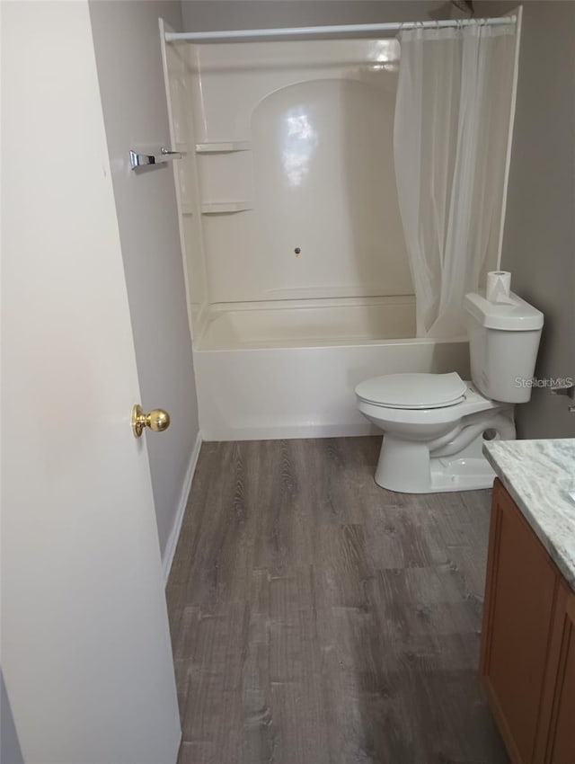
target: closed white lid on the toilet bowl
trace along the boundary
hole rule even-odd
[[[360,382],[356,395],[369,404],[402,409],[433,409],[464,400],[467,386],[450,374],[388,374]]]

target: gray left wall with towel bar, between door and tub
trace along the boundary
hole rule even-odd
[[[198,411],[173,170],[163,165],[137,175],[127,157],[131,147],[169,144],[158,17],[180,29],[181,5],[93,0],[90,13],[141,403],[172,415],[168,431],[144,436],[164,555],[198,434]]]

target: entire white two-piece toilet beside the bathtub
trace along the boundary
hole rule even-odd
[[[515,404],[531,397],[544,316],[512,292],[506,303],[465,295],[471,381],[389,374],[356,387],[358,410],[384,431],[376,483],[401,493],[490,488],[485,440],[514,440]]]

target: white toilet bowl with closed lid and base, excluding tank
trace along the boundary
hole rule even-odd
[[[376,483],[401,493],[489,488],[484,440],[516,437],[513,405],[458,374],[393,374],[356,388],[358,410],[384,431]]]

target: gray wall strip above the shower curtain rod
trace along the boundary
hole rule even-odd
[[[258,29],[429,19],[438,0],[182,0],[183,29]]]

